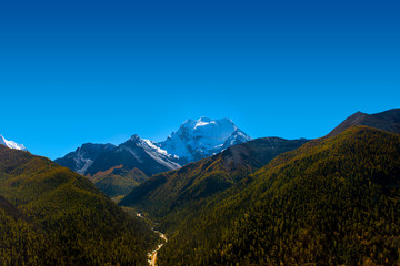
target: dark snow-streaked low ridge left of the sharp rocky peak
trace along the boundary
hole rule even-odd
[[[116,145],[84,143],[74,152],[68,153],[62,158],[57,158],[54,162],[73,170],[79,174],[84,174],[94,160],[103,152],[114,149]]]

